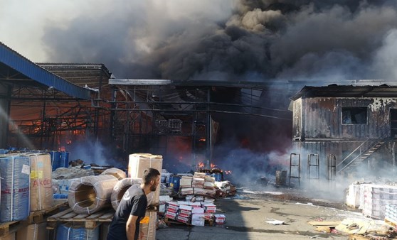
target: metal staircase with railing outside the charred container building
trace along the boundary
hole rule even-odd
[[[364,160],[366,160],[366,158],[369,158],[369,156],[371,156],[372,153],[374,153],[381,146],[383,146],[383,144],[386,141],[385,140],[377,141],[373,145],[369,146],[369,148],[366,148],[365,151],[363,151],[363,148],[364,148],[363,146],[365,145],[365,143],[368,143],[368,142],[369,142],[369,139],[367,139],[366,141],[361,143],[361,145],[358,146],[356,149],[354,149],[354,151],[352,151],[348,156],[346,156],[346,158],[344,158],[344,160],[342,160],[340,163],[338,163],[337,168],[340,168],[340,169],[337,171],[337,173],[342,173],[342,171],[345,170],[346,168],[352,168],[352,167],[355,167],[355,166],[359,165],[360,163],[364,162]],[[357,154],[357,155],[354,156],[355,154]],[[352,156],[354,156],[354,157],[352,157]],[[346,163],[346,162],[348,162],[348,163]],[[344,163],[346,163],[346,165],[342,165]]]

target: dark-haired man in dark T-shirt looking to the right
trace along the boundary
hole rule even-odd
[[[129,187],[125,192],[109,227],[107,240],[137,240],[139,236],[139,222],[146,214],[147,197],[156,191],[160,182],[157,169],[144,170],[140,187]]]

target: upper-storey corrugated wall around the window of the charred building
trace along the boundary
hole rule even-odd
[[[359,140],[391,136],[389,111],[397,109],[396,99],[307,98],[301,99],[301,104],[298,100],[294,103],[294,138],[301,136],[304,141],[330,138]],[[342,124],[342,107],[367,107],[367,123]]]

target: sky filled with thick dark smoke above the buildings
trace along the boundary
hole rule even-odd
[[[368,0],[0,0],[0,41],[34,62],[116,77],[396,79],[397,3]]]

